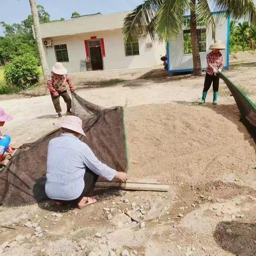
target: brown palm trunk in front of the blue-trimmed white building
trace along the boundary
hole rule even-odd
[[[192,44],[192,55],[194,65],[194,76],[202,76],[201,59],[199,54],[198,36],[196,30],[196,0],[191,0],[190,7],[190,33]]]

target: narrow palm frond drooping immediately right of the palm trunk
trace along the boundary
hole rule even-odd
[[[215,41],[216,25],[207,0],[199,0],[197,3],[197,23],[203,22],[206,27],[212,30],[212,38]]]

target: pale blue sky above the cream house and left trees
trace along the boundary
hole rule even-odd
[[[81,15],[129,11],[142,2],[143,0],[36,0],[37,4],[45,7],[51,20],[61,17],[70,19],[71,13],[75,11]],[[7,24],[20,23],[31,14],[29,0],[0,0],[0,4],[0,21]],[[0,36],[3,35],[3,28],[0,26]]]

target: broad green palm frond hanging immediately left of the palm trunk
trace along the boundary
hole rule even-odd
[[[161,39],[175,41],[185,23],[190,0],[165,0],[156,13],[157,32]]]

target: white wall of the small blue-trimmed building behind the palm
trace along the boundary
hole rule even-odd
[[[214,14],[216,21],[216,39],[221,40],[223,44],[227,45],[228,37],[228,20],[221,17],[219,14]],[[212,39],[212,30],[206,29],[206,53],[200,53],[202,69],[207,67],[206,54],[209,53],[210,45],[214,43]],[[224,66],[227,67],[227,50],[221,51],[224,58]],[[193,69],[192,54],[183,54],[183,31],[176,42],[169,42],[169,58],[170,58],[170,72],[188,71]]]

